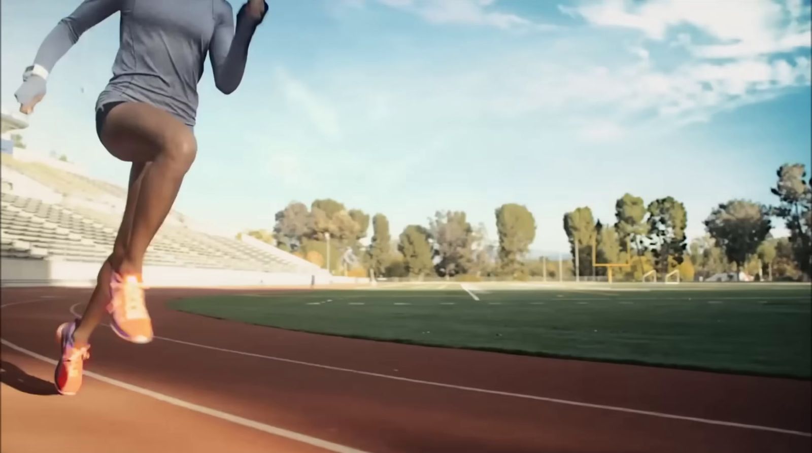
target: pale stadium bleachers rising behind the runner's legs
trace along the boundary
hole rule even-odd
[[[4,179],[0,197],[0,256],[98,263],[106,259],[121,220],[120,206],[127,193],[124,188],[8,154],[2,156],[2,166],[3,170],[24,175],[63,198],[45,202],[36,194],[20,193]],[[175,218],[183,216],[178,214]],[[264,273],[322,272],[317,265],[278,248],[260,248],[238,239],[196,231],[183,222],[163,225],[149,246],[145,265]]]

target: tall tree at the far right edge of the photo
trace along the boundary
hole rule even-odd
[[[771,192],[778,196],[780,205],[771,209],[772,214],[784,219],[798,267],[812,276],[812,188],[806,182],[806,166],[784,164],[776,176],[778,181]]]

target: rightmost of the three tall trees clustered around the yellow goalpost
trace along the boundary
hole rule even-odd
[[[654,265],[663,276],[668,272],[669,260],[682,263],[685,253],[685,205],[671,196],[659,198],[649,204],[648,230]]]

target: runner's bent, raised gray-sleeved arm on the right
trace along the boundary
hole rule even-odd
[[[248,45],[257,25],[265,18],[268,4],[263,0],[249,0],[245,3],[237,13],[235,30],[231,6],[227,2],[218,3],[222,7],[218,11],[209,56],[214,71],[214,84],[222,93],[231,94],[243,80]]]

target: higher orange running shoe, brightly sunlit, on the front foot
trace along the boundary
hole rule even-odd
[[[144,285],[135,275],[122,278],[113,272],[107,311],[112,321],[110,327],[119,337],[132,343],[152,341],[152,321],[144,302]]]

